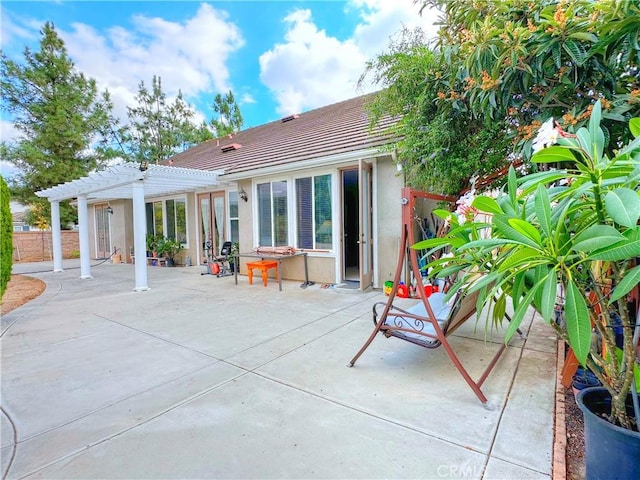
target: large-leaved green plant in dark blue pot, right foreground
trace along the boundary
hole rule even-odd
[[[608,153],[600,118],[597,102],[575,134],[545,123],[532,161],[553,168],[521,178],[511,169],[495,196],[470,192],[458,215],[438,211],[448,233],[414,248],[444,253],[429,274],[456,275],[449,295],[480,290],[491,321],[502,321],[510,297],[507,341],[530,307],[539,312],[603,385],[577,399],[587,476],[640,478],[640,118],[630,122],[636,138]]]

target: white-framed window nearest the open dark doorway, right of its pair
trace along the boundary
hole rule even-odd
[[[331,175],[296,179],[296,247],[330,250],[331,220]]]

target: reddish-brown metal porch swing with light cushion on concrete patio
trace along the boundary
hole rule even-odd
[[[455,199],[421,192],[408,187],[402,189],[402,232],[393,287],[386,302],[378,302],[373,306],[374,329],[362,348],[360,348],[358,353],[356,353],[349,362],[348,366],[353,367],[364,351],[371,345],[378,333],[382,333],[387,338],[396,337],[424,348],[433,349],[443,346],[454,366],[458,369],[458,372],[462,375],[469,387],[471,387],[482,405],[488,410],[493,410],[493,405],[487,400],[481,387],[505,351],[506,345],[504,343],[501,344],[499,350],[493,356],[480,378],[474,380],[462,365],[453,346],[449,343],[449,335],[476,313],[476,303],[479,292],[476,291],[465,294],[464,289],[460,289],[448,302],[445,301],[446,294],[443,292],[431,293],[427,296],[425,287],[421,281],[422,272],[418,262],[417,251],[409,248],[416,243],[416,220],[424,218],[425,213],[422,212],[422,217],[420,217],[417,212],[417,207],[419,203],[425,204],[427,201],[432,203],[453,203]],[[430,213],[429,211],[428,214]],[[437,225],[433,225],[431,229],[432,233],[429,233],[421,228],[423,235],[433,234],[436,229]],[[403,309],[395,305],[394,300],[396,299],[398,287],[402,280],[407,251],[409,251],[409,272],[412,273],[417,280],[416,293],[421,301],[408,309]],[[506,318],[510,320],[508,316]],[[518,333],[520,336],[523,336],[519,330]]]

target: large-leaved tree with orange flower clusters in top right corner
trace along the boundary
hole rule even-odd
[[[575,132],[601,100],[611,148],[640,113],[640,1],[418,1],[443,12],[439,108],[505,122],[514,151],[550,116]],[[455,99],[448,92],[455,94]]]

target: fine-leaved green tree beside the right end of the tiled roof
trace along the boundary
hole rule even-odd
[[[384,87],[369,105],[372,125],[385,115],[398,118],[391,128],[406,183],[455,194],[474,174],[490,174],[503,166],[509,142],[499,122],[438,107],[439,62],[422,30],[405,28],[386,52],[367,63],[360,83],[372,76]]]

